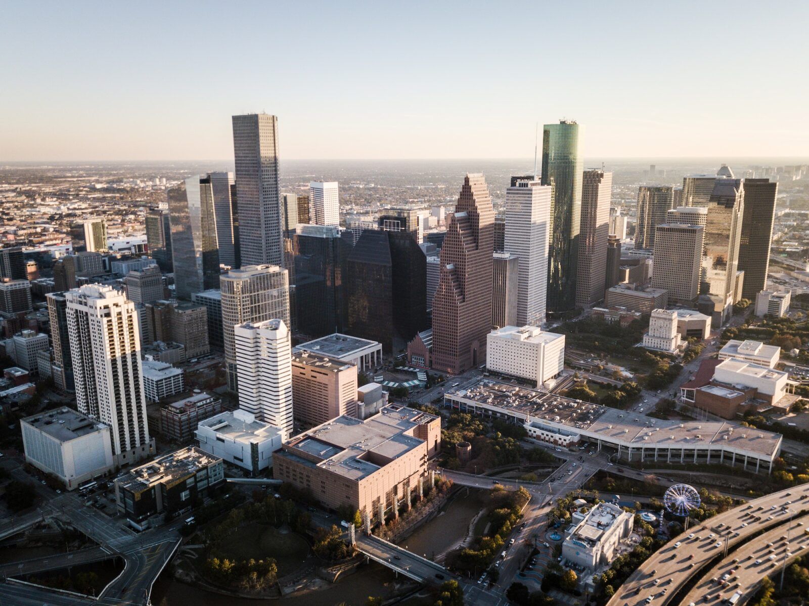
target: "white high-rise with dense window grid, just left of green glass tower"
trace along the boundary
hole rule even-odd
[[[548,244],[553,188],[536,177],[515,179],[506,188],[503,251],[519,258],[517,317],[506,324],[541,326],[548,291]]]

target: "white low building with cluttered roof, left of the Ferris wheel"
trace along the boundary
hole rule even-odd
[[[633,513],[612,503],[591,507],[567,532],[561,557],[590,571],[608,566],[619,555],[618,544],[632,534],[634,520]]]

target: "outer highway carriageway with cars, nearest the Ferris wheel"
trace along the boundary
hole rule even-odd
[[[796,486],[753,499],[747,505],[715,515],[697,528],[689,528],[672,539],[670,546],[659,549],[643,562],[616,590],[608,606],[646,604],[646,590],[654,578],[661,579],[660,587],[666,591],[661,589],[655,593],[650,604],[667,604],[672,595],[676,595],[715,557],[722,555],[726,548],[743,544],[756,532],[788,523],[790,506],[803,509],[809,505],[807,498],[809,485]],[[760,520],[756,521],[754,516]],[[682,566],[683,557],[689,558],[688,566]],[[692,563],[693,567],[690,566]]]

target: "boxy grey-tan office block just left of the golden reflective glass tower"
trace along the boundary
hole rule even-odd
[[[694,303],[699,295],[705,227],[663,223],[654,237],[652,286],[668,290],[669,303]]]

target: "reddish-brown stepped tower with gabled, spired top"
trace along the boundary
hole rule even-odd
[[[433,368],[457,375],[486,360],[492,318],[494,210],[483,175],[467,175],[441,248]]]

